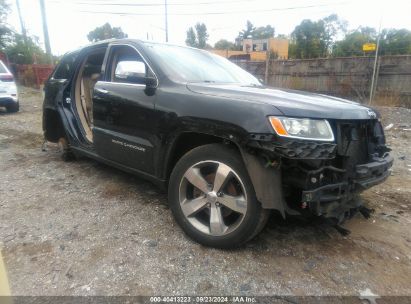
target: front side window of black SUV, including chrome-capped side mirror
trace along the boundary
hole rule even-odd
[[[111,82],[145,84],[147,65],[129,46],[115,47],[112,53]]]

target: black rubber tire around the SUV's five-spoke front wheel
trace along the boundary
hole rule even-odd
[[[197,229],[184,215],[180,204],[180,186],[186,171],[195,164],[204,161],[216,161],[233,169],[236,176],[241,179],[247,197],[247,211],[243,215],[242,221],[236,226],[235,230],[225,235],[210,235]],[[222,144],[197,147],[189,151],[178,161],[170,177],[168,201],[170,209],[183,231],[198,243],[215,248],[238,247],[251,240],[264,228],[270,215],[270,210],[263,209],[257,201],[241,155],[235,149]]]

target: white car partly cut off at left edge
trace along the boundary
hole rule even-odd
[[[0,107],[6,107],[7,112],[18,112],[19,96],[13,74],[0,60]]]

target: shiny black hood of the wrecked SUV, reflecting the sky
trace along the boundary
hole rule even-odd
[[[303,91],[213,83],[189,83],[187,88],[198,94],[269,104],[289,117],[325,119],[375,119],[379,117],[377,111],[359,103]]]

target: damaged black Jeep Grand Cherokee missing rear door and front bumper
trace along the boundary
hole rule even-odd
[[[393,159],[379,114],[269,88],[188,47],[103,41],[66,54],[45,86],[43,129],[85,155],[166,188],[176,221],[208,246],[238,246],[275,209],[334,225]],[[339,226],[338,226],[339,227]]]

